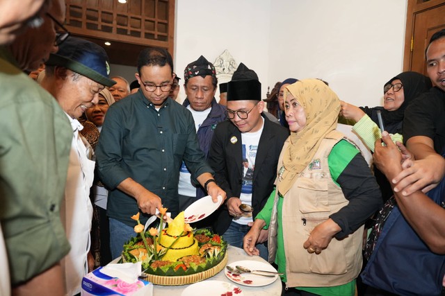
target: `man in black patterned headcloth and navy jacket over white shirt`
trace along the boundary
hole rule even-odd
[[[216,103],[217,85],[215,67],[202,55],[195,62],[188,64],[184,70],[184,89],[187,98],[182,105],[192,113],[197,139],[206,159],[213,131],[218,123],[225,121],[225,107]],[[192,202],[206,195],[202,186],[193,186],[190,177],[190,172],[183,162],[178,185],[179,211],[184,211]]]

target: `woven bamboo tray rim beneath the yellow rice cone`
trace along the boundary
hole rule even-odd
[[[160,275],[147,275],[147,281],[151,281],[153,284],[161,285],[161,286],[182,286],[182,285],[188,285],[196,283],[197,281],[203,281],[204,279],[209,279],[209,277],[213,277],[213,275],[216,275],[218,272],[223,270],[225,268],[225,265],[227,264],[227,250],[225,252],[225,256],[223,260],[218,263],[218,265],[213,266],[213,268],[210,268],[208,270],[204,270],[202,272],[195,273],[193,275],[182,275],[182,276],[172,276],[172,277],[166,277],[166,276],[160,276]]]

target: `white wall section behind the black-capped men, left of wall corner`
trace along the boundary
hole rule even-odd
[[[214,62],[227,49],[238,64],[243,62],[257,72],[261,82],[266,82],[271,3],[271,0],[177,0],[175,71],[178,76],[183,79],[186,65],[200,55]],[[184,98],[181,88],[178,101]]]

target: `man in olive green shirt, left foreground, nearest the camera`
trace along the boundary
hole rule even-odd
[[[0,220],[13,295],[63,295],[60,259],[70,250],[60,204],[72,130],[54,97],[22,72],[58,50],[65,1],[48,4],[32,27],[0,47]]]

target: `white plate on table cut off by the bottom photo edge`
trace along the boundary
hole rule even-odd
[[[181,296],[200,296],[200,295],[232,295],[243,296],[241,288],[226,283],[225,281],[200,281],[188,286],[181,293]]]

